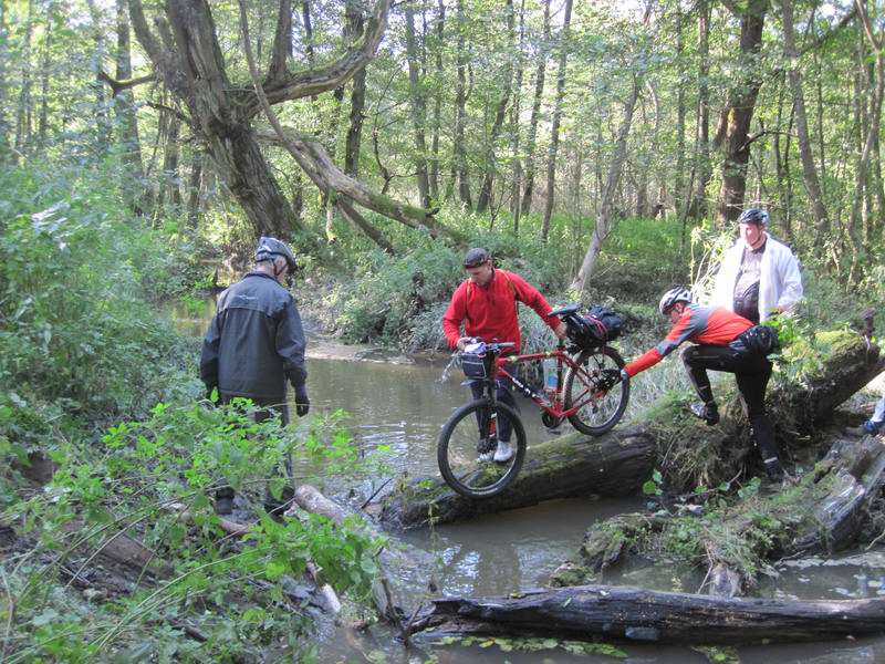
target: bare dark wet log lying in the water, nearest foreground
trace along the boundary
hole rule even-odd
[[[885,598],[803,602],[582,585],[435,600],[413,623],[419,631],[693,645],[826,641],[885,633]]]

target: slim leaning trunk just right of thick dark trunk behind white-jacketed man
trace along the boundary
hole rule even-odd
[[[793,95],[795,112],[795,129],[799,137],[799,156],[802,160],[802,177],[805,190],[811,199],[811,209],[814,215],[814,229],[816,243],[822,242],[830,234],[830,218],[823,203],[818,168],[811,153],[811,134],[809,133],[808,116],[805,114],[805,96],[802,92],[802,73],[799,70],[799,49],[795,45],[793,29],[792,0],[781,0],[781,15],[783,17],[783,52],[789,63],[787,76],[790,81],[790,92]],[[789,158],[789,155],[788,155]]]

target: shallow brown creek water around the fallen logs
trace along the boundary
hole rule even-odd
[[[202,334],[212,304],[199,315],[179,319],[180,328]],[[383,351],[346,346],[312,336],[309,340],[309,392],[311,416],[323,411],[345,409],[347,425],[358,444],[371,452],[378,445],[393,449],[388,465],[410,476],[438,474],[436,437],[452,408],[466,401],[467,390],[452,372],[442,380],[446,357],[409,359]],[[530,402],[520,402],[531,444],[549,436],[539,412]],[[568,430],[568,424],[564,426]],[[367,497],[381,478],[360,480],[357,497]],[[324,489],[341,498],[343,485],[330,481]],[[336,495],[337,494],[337,495]],[[492,595],[542,587],[555,567],[580,544],[586,528],[596,520],[624,511],[642,509],[641,498],[571,499],[532,508],[488,516],[468,523],[414,530],[395,536],[405,544],[428,552],[436,562],[431,570],[404,574],[400,588],[414,598],[427,594],[427,579],[438,582],[442,594]],[[848,551],[832,558],[785,561],[777,567],[778,578],[762,577],[760,596],[839,600],[885,594],[885,548]],[[626,570],[612,582],[673,590],[664,572]],[[700,584],[700,579],[698,579]],[[683,588],[693,592],[697,588]],[[429,595],[428,595],[429,596]],[[705,654],[687,647],[620,645],[631,663],[675,664],[707,662]],[[371,660],[367,658],[371,654]],[[814,664],[872,664],[885,662],[885,637],[801,645],[752,646],[738,649],[743,663],[811,662]],[[356,635],[350,630],[326,624],[322,629],[321,662],[528,664],[543,662],[614,662],[606,656],[571,655],[563,650],[537,653],[504,653],[491,646],[437,645],[416,640],[404,647],[395,634],[383,626]]]

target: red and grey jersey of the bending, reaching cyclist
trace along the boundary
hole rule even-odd
[[[689,304],[664,341],[636,357],[624,370],[631,377],[635,376],[660,362],[684,341],[702,345],[728,345],[752,326],[746,318],[726,309]]]

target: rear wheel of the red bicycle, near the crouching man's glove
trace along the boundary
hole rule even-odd
[[[601,436],[618,423],[629,400],[629,381],[623,381],[608,391],[597,387],[604,369],[623,369],[624,359],[608,346],[581,351],[575,365],[565,373],[565,409],[577,406],[569,422],[582,434]]]

